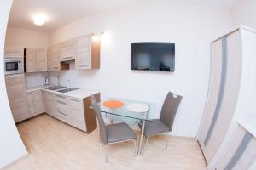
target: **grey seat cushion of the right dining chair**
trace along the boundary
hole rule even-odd
[[[138,126],[142,128],[142,124],[139,123]],[[165,123],[161,122],[159,119],[154,119],[153,121],[145,122],[144,136],[149,137],[158,133],[166,133],[169,128],[166,127]]]

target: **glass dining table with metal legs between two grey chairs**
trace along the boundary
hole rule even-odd
[[[123,105],[113,109],[104,105],[106,101],[119,101]],[[131,126],[134,126],[137,123],[141,123],[141,133],[137,150],[137,154],[141,155],[145,122],[153,120],[154,104],[128,99],[107,98],[99,102],[99,105],[101,108],[102,116],[108,118],[110,123],[113,123],[113,120],[116,122],[126,122]]]

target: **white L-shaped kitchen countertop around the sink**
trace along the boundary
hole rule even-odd
[[[57,92],[56,90],[45,89],[48,87],[49,86],[47,86],[47,87],[46,86],[37,86],[37,87],[32,87],[32,88],[26,88],[26,92],[44,90],[44,91],[47,91],[50,93],[65,95],[65,96],[73,97],[73,98],[77,98],[77,99],[84,99],[84,98],[89,97],[90,95],[100,93],[100,90],[96,90],[96,89],[92,89],[92,88],[79,88],[79,89],[73,90],[71,92],[61,93],[61,92]]]

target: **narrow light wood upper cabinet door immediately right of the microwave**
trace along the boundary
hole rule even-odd
[[[36,71],[36,49],[27,48],[26,49],[26,72]]]

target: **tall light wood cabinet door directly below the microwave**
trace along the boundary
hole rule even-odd
[[[5,76],[9,104],[14,116],[15,122],[20,122],[30,118],[32,115],[26,97],[24,74],[15,74]],[[19,92],[17,95],[16,92]]]

